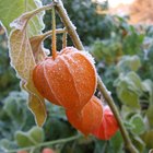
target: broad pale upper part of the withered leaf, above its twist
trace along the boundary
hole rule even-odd
[[[36,63],[25,28],[14,30],[9,40],[11,64],[20,79],[28,81]]]

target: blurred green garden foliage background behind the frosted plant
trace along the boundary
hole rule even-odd
[[[51,0],[43,0],[44,4]],[[140,153],[153,148],[153,0],[63,0],[80,38],[96,61],[96,69],[120,110]],[[44,16],[50,30],[51,12]],[[57,27],[62,23],[57,17]],[[27,94],[10,66],[8,39],[0,26],[0,153],[76,134],[62,108],[48,105],[48,118],[35,127],[27,109]],[[50,49],[50,39],[45,47]],[[61,48],[58,36],[58,49]],[[72,42],[68,37],[68,44]],[[126,153],[120,132],[109,141],[90,136],[49,145],[56,153]],[[39,153],[42,149],[35,150]]]

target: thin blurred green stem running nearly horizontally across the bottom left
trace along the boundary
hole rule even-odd
[[[64,138],[64,139],[55,140],[55,141],[48,141],[48,142],[39,143],[39,144],[36,144],[36,145],[27,146],[27,148],[9,150],[7,152],[8,153],[16,153],[19,151],[30,151],[30,150],[34,150],[34,149],[37,149],[37,148],[40,148],[40,146],[54,145],[54,144],[57,144],[57,143],[66,143],[66,142],[79,139],[80,137],[81,137],[81,134],[78,134],[78,136],[74,136],[74,137],[69,137],[69,138]]]

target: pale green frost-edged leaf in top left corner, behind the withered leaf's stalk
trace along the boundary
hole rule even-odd
[[[42,7],[40,0],[0,0],[0,21],[7,28],[8,34],[11,32],[10,23],[19,17],[26,11],[32,11],[36,8]],[[44,28],[43,23],[44,13],[39,13],[30,21],[28,34],[34,36],[42,33]]]

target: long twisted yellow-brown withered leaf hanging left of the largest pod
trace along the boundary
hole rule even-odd
[[[36,62],[26,26],[23,26],[22,30],[14,30],[9,40],[11,64],[16,70],[19,78],[25,82],[25,89],[30,93],[28,106],[35,115],[37,125],[43,126],[46,120],[46,107],[44,98],[39,95],[32,81],[32,72]]]

